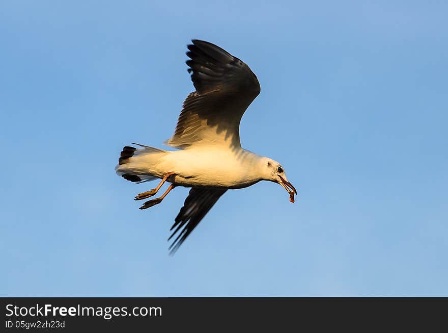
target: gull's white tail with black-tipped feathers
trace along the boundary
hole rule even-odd
[[[131,146],[123,147],[118,159],[115,171],[125,180],[134,183],[143,183],[157,178],[156,171],[152,168],[157,160],[164,156],[167,151],[159,148],[133,143],[143,148],[138,149]]]

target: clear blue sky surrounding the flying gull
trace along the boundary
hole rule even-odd
[[[448,296],[445,1],[0,4],[0,294]],[[261,94],[243,147],[285,167],[226,193],[174,257],[188,189],[146,211],[115,174],[163,148],[194,88],[186,44]]]

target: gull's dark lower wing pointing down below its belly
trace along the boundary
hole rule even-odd
[[[181,246],[188,235],[199,224],[199,222],[201,222],[203,217],[226,191],[227,190],[225,189],[205,189],[198,187],[191,188],[187,198],[185,199],[184,206],[180,209],[180,212],[170,229],[173,230],[177,226],[176,230],[174,230],[168,240],[173,238],[179,229],[186,224],[174,242],[170,245],[170,254],[174,254],[174,252],[177,251],[179,246]]]

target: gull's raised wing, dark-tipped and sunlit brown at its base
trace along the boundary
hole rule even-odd
[[[196,91],[185,99],[174,135],[166,143],[177,148],[200,142],[241,147],[239,124],[260,93],[257,76],[222,48],[192,42],[187,65]]]

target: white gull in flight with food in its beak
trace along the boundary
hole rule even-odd
[[[260,93],[254,72],[210,42],[193,39],[187,48],[187,70],[195,91],[186,97],[174,134],[164,142],[176,150],[133,143],[138,148],[123,147],[115,167],[116,173],[130,182],[161,180],[134,200],[150,198],[164,183],[170,184],[161,196],[144,202],[141,210],[159,204],[176,187],[190,188],[171,227],[168,240],[176,238],[169,245],[170,254],[230,189],[270,181],[284,187],[291,202],[297,194],[280,163],[241,147],[241,117]]]

